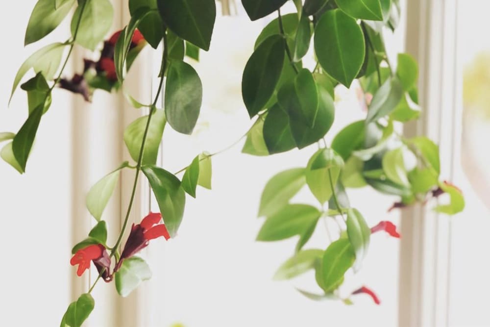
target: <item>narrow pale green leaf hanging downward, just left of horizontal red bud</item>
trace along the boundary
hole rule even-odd
[[[347,210],[346,225],[350,244],[356,253],[354,271],[359,271],[359,269],[361,269],[362,262],[368,253],[371,229],[368,227],[364,217],[357,209]]]

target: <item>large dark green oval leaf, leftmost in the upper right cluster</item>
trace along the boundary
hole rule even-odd
[[[242,96],[248,114],[255,116],[272,97],[283,68],[285,41],[272,35],[252,53],[245,65]]]

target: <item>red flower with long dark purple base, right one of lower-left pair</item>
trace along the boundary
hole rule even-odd
[[[140,224],[133,224],[126,244],[124,245],[121,260],[114,269],[115,271],[119,270],[121,264],[123,263],[123,259],[129,258],[146,248],[150,240],[160,236],[165,237],[166,240],[170,238],[167,227],[165,227],[164,224],[159,224],[161,220],[162,214],[159,212],[150,212],[145,218],[143,218]]]

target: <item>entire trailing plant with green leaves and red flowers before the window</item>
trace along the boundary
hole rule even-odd
[[[312,300],[351,303],[351,297],[342,296],[339,288],[349,269],[361,269],[371,234],[385,231],[396,238],[400,234],[388,221],[369,227],[348,201],[349,188],[369,186],[366,192],[398,196],[400,201],[390,210],[426,204],[447,194],[448,201],[437,204],[434,210],[456,214],[465,202],[456,186],[440,180],[438,146],[423,136],[405,138],[394,127],[417,119],[420,113],[417,62],[409,54],[400,53],[396,66],[392,65],[383,40],[383,33],[398,24],[398,0],[292,1],[297,12],[283,15],[281,7],[287,0],[242,0],[251,20],[277,15],[257,37],[244,67],[242,95],[255,122],[238,140],[245,138],[243,152],[266,156],[319,146],[305,167],[280,172],[267,183],[258,213],[266,219],[257,240],[298,236],[294,255],[278,269],[275,278],[290,279],[313,269],[318,292],[299,293]],[[222,152],[197,154],[174,174],[156,166],[165,126],[191,134],[199,117],[202,83],[192,62],[199,60],[199,49],[212,46],[215,0],[129,0],[130,21],[106,41],[113,16],[109,0],[39,0],[29,19],[25,44],[48,35],[73,7],[71,38],[34,52],[14,79],[12,96],[24,76],[30,70],[35,72],[21,85],[28,98],[24,125],[17,133],[0,133],[0,141],[12,140],[0,156],[21,174],[56,86],[91,101],[97,89],[121,89],[126,72],[143,47],[157,50],[162,45],[163,50],[160,83],[153,102],[145,105],[126,95],[135,108],[149,108],[147,116],[124,131],[123,140],[135,164],[123,162],[87,195],[87,208],[97,225],[73,247],[71,264],[78,266],[76,273],[81,276],[93,263],[99,276],[87,293],[69,305],[61,326],[71,327],[81,326],[94,309],[91,293],[100,279],[114,281],[124,297],[151,276],[145,260],[135,254],[152,239],[176,236],[184,217],[186,194],[195,198],[197,185],[211,188],[211,158]],[[75,45],[100,50],[99,60],[87,59],[81,74],[63,77]],[[61,65],[66,47],[69,50]],[[310,55],[316,62],[311,69],[303,65],[303,58]],[[328,146],[324,136],[335,117],[335,88],[349,88],[352,83],[363,90],[367,117],[345,126]],[[160,97],[164,98],[164,109],[157,108]],[[123,169],[134,170],[134,184],[117,241],[109,246],[108,226],[102,214]],[[123,243],[141,173],[153,190],[160,212],[150,212],[140,224],[133,224]],[[291,203],[305,186],[318,200],[317,205]],[[337,239],[326,240],[325,249],[303,250],[320,219],[338,224]],[[380,303],[366,286],[360,285],[349,294],[367,294]]]

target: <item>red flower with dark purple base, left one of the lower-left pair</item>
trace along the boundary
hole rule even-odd
[[[90,261],[94,262],[99,273],[103,270],[102,277],[105,281],[112,280],[109,273],[111,259],[102,244],[93,244],[78,250],[70,260],[70,264],[72,266],[78,265],[76,275],[82,276],[90,268]]]

